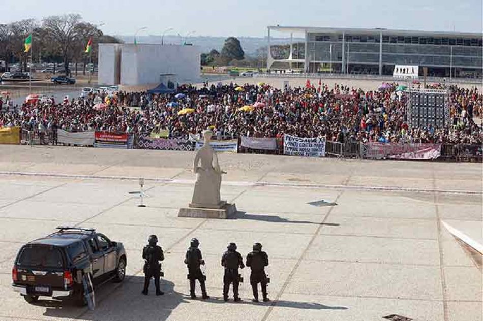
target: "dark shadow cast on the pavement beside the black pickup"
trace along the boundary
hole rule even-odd
[[[180,303],[188,303],[185,296],[174,291],[174,283],[161,280],[161,290],[155,295],[154,281],[151,280],[149,295],[141,294],[143,276],[126,276],[121,284],[106,283],[95,288],[96,309],[77,307],[72,302],[39,300],[38,306],[46,306],[44,316],[72,318],[79,320],[166,320]]]

